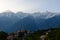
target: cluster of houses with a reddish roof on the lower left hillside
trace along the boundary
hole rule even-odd
[[[7,36],[7,40],[24,40],[31,32],[26,30],[18,30]]]

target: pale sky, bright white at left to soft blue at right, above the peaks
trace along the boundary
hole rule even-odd
[[[0,12],[60,12],[60,0],[0,0]]]

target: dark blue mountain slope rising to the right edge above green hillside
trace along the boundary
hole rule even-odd
[[[43,24],[41,25],[46,27],[46,28],[55,28],[55,27],[60,27],[60,15],[54,16],[50,19],[47,19]]]

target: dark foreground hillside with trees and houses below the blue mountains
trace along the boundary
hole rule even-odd
[[[16,34],[17,33],[17,34]],[[44,35],[44,40],[60,40],[60,28],[53,28],[47,30],[37,30],[37,31],[18,31],[13,32],[10,35],[1,31],[0,32],[0,40],[8,40],[7,37],[12,40],[42,40],[42,36]],[[10,39],[10,40],[11,40]]]

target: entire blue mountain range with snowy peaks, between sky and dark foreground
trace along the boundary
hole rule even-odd
[[[0,30],[14,32],[16,30],[43,30],[60,28],[60,13],[52,12],[2,12],[0,13]]]

